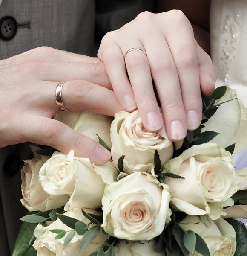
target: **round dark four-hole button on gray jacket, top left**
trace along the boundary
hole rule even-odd
[[[0,20],[0,38],[10,40],[17,33],[18,25],[14,17],[5,16]]]

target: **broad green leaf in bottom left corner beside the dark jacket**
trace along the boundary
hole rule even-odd
[[[12,256],[27,256],[28,254],[29,256],[35,255],[32,253],[35,253],[36,250],[31,245],[34,242],[33,233],[36,226],[37,224],[28,222],[23,222],[21,224],[17,239],[15,241],[14,252]]]

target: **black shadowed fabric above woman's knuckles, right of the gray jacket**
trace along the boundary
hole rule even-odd
[[[95,32],[99,43],[103,36],[124,26],[144,11],[156,12],[157,0],[96,0]]]

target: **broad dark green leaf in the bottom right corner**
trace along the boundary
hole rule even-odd
[[[247,255],[247,229],[243,222],[234,219],[228,219],[227,222],[231,224],[236,232],[237,248],[234,256]]]

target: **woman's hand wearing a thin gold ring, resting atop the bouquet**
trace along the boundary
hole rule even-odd
[[[146,55],[134,50],[124,60],[132,48],[142,49]],[[196,43],[192,26],[181,11],[139,14],[121,29],[105,35],[98,57],[106,65],[122,106],[127,111],[138,107],[147,130],[158,131],[165,125],[168,137],[178,141],[184,139],[187,129],[198,128],[201,91],[210,95],[217,72],[209,55]]]

